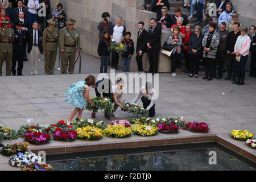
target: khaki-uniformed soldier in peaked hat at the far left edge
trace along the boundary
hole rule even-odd
[[[0,76],[2,76],[3,61],[6,60],[6,76],[11,75],[11,59],[13,59],[14,30],[9,28],[10,20],[1,21],[0,28]]]

